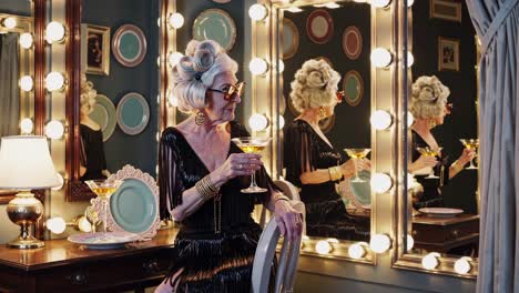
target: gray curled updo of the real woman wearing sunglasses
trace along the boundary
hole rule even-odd
[[[173,95],[179,99],[179,110],[192,112],[207,105],[206,91],[216,75],[237,72],[237,63],[215,41],[192,40],[185,55],[173,67]]]

